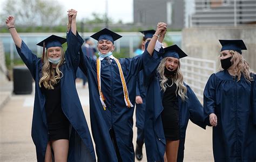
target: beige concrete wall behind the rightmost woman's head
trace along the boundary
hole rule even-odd
[[[219,39],[244,40],[247,50],[242,50],[242,56],[256,70],[256,26],[186,28],[182,32],[182,49],[188,56],[215,60],[218,68]]]

